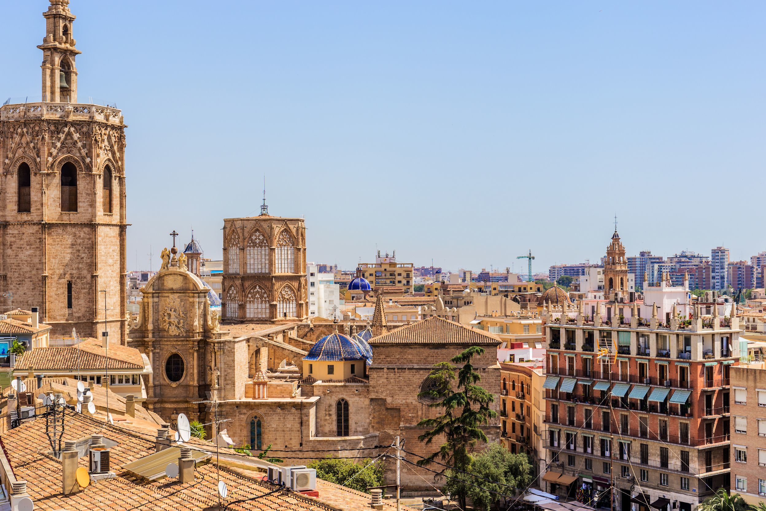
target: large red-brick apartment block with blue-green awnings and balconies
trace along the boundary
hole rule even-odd
[[[688,288],[668,284],[641,301],[591,301],[589,316],[582,302],[543,310],[543,490],[611,508],[614,488],[616,511],[691,511],[728,488],[738,318],[722,314],[730,303],[689,303]]]

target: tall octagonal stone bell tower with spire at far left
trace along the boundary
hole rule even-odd
[[[43,16],[42,101],[0,106],[0,312],[38,307],[54,336],[124,344],[126,126],[77,103],[69,0]]]

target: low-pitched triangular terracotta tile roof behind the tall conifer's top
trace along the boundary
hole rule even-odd
[[[411,325],[400,326],[381,336],[373,337],[369,344],[471,344],[498,345],[499,337],[463,326],[440,317],[430,317]]]

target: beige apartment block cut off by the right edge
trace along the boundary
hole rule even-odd
[[[766,504],[766,363],[732,367],[732,492]]]

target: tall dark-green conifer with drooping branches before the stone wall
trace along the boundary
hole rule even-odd
[[[429,428],[417,437],[417,440],[428,445],[437,437],[444,437],[444,443],[439,446],[439,450],[419,460],[418,465],[426,466],[438,457],[444,464],[457,471],[467,471],[471,464],[470,450],[480,441],[488,441],[481,427],[487,424],[490,418],[497,416],[496,412],[489,408],[495,398],[476,385],[481,381],[481,376],[473,370],[471,364],[474,356],[483,353],[484,350],[479,346],[471,346],[460,355],[453,356],[452,363],[463,364],[457,372],[457,389],[454,390],[456,366],[450,362],[439,362],[431,369],[428,375],[430,385],[418,394],[418,397],[433,401],[429,406],[440,408],[442,414],[437,418],[424,419],[417,423],[419,427]],[[444,474],[445,471],[446,469],[441,470],[440,473]],[[460,507],[465,509],[465,489],[457,488],[453,495]]]

